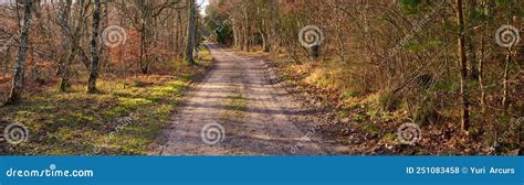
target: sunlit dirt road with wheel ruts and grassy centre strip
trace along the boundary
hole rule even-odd
[[[262,61],[209,45],[217,61],[187,95],[154,149],[158,155],[324,155],[315,121]]]

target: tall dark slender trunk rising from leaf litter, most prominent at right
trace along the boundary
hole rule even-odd
[[[459,56],[460,56],[460,95],[462,100],[461,130],[469,134],[470,128],[470,102],[468,99],[468,58],[465,56],[465,33],[462,0],[457,0],[457,21],[460,28],[459,34]]]

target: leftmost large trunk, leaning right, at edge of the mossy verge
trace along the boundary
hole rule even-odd
[[[17,63],[14,64],[14,75],[9,95],[8,105],[17,104],[21,99],[21,91],[23,89],[23,76],[25,69],[25,58],[29,48],[29,30],[31,26],[33,1],[23,0],[23,23],[20,28],[20,46],[18,52]]]

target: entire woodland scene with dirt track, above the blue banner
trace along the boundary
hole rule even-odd
[[[523,18],[520,0],[0,0],[0,154],[520,155]]]

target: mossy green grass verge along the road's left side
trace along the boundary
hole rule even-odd
[[[49,87],[20,105],[1,107],[0,126],[22,123],[30,134],[19,145],[0,142],[0,154],[147,154],[191,81],[211,66],[209,51],[199,56],[197,66],[172,64],[171,75],[101,79],[97,95],[86,94],[84,86],[69,92]]]

